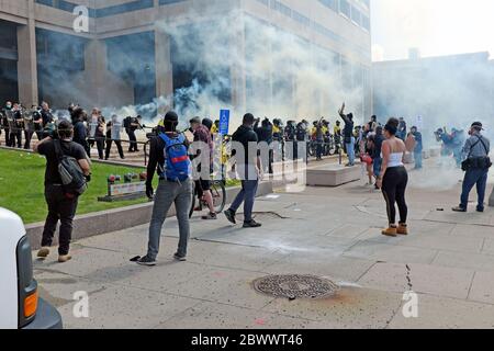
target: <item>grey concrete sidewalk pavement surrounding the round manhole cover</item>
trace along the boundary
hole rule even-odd
[[[35,278],[66,328],[494,328],[494,210],[450,212],[461,172],[435,174],[411,172],[407,237],[381,236],[382,195],[362,181],[265,196],[255,207],[260,229],[194,217],[187,262],[171,258],[170,219],[155,268],[128,261],[145,253],[145,225],[75,242],[65,264],[55,254],[35,261]],[[278,273],[325,276],[341,290],[289,301],[252,288]],[[402,314],[407,276],[418,318]],[[89,318],[72,314],[77,291],[89,294]]]

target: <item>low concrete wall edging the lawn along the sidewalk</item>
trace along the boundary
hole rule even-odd
[[[231,203],[233,199],[240,192],[240,186],[226,189],[226,203]],[[257,196],[268,195],[272,193],[272,182],[261,182],[257,191]],[[147,204],[133,205],[76,216],[76,218],[74,219],[72,241],[147,224],[150,222],[151,214],[153,202],[149,202]],[[171,206],[168,213],[168,217],[172,217],[175,215],[175,206]],[[59,227],[59,225],[57,227]],[[33,250],[40,249],[43,228],[44,222],[38,222],[25,226],[26,235],[30,239],[31,248]],[[57,234],[54,237],[53,245],[58,245]]]

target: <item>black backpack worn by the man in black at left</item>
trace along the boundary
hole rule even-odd
[[[69,194],[82,195],[88,190],[88,183],[79,162],[76,158],[64,154],[60,140],[54,140],[54,147],[64,191]]]

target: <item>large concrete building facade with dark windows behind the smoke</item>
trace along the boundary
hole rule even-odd
[[[203,24],[214,31],[232,13],[249,21],[240,30],[232,22],[236,30],[222,45],[240,53],[243,60],[258,55],[249,43],[261,26],[290,33],[316,53],[316,65],[336,67],[335,84],[358,91],[357,114],[371,114],[369,0],[0,0],[0,100],[24,105],[46,100],[65,107],[69,102],[122,106],[171,98],[194,80],[211,78],[201,77],[198,68],[206,71],[206,63],[191,68],[182,61],[182,47],[169,29],[200,23],[195,31]],[[83,19],[87,31],[78,33]],[[276,69],[259,81],[246,66],[237,60],[221,68],[226,83],[214,93],[225,104],[245,110],[255,92],[269,103],[285,87],[289,97],[301,89],[290,77],[276,77]],[[325,92],[321,100],[323,113]]]

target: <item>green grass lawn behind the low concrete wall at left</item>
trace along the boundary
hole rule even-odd
[[[46,218],[44,174],[46,160],[43,156],[16,150],[0,149],[0,207],[19,214],[25,224]],[[147,202],[146,199],[116,203],[98,202],[108,192],[110,174],[138,173],[145,169],[102,163],[92,165],[92,180],[88,191],[79,199],[78,214],[119,208]],[[156,182],[155,178],[155,182]]]

